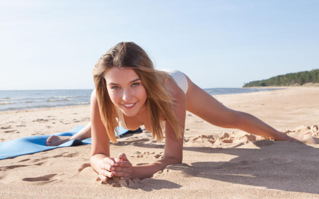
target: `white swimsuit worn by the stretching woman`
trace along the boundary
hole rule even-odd
[[[188,89],[188,82],[184,73],[178,70],[172,70],[172,69],[155,69],[155,70],[164,71],[164,72],[167,72],[169,75],[171,75],[173,79],[175,80],[175,82],[177,83],[178,87],[180,87],[186,94]],[[116,118],[116,120],[118,121],[119,126],[121,126],[124,129],[128,129],[128,127],[126,126],[123,112],[117,109],[117,114],[118,114],[118,118]],[[165,127],[165,121],[162,121],[161,124],[162,124],[162,128]]]

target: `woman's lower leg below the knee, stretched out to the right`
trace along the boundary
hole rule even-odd
[[[240,122],[238,122],[238,129],[259,136],[270,137],[275,140],[289,140],[290,137],[287,136],[287,134],[277,131],[255,116],[244,112],[239,113]]]

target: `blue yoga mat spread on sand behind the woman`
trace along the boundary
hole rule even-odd
[[[70,132],[62,132],[55,133],[52,135],[64,135],[64,136],[72,136],[81,130],[83,126],[77,126],[73,128]],[[123,135],[125,133],[133,133],[133,132],[142,132],[142,129],[139,128],[135,131],[126,130],[122,127],[119,127],[118,134]],[[58,146],[47,146],[46,142],[50,135],[32,135],[27,137],[21,137],[18,139],[13,139],[10,141],[5,141],[0,143],[0,160],[7,158],[14,158],[17,156],[34,154],[37,152],[43,152],[52,150],[53,148],[66,147],[66,146],[76,146],[82,144],[91,144],[91,138],[87,138],[84,140],[73,139]]]

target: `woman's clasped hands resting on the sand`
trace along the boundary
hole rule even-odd
[[[133,167],[125,154],[119,155],[117,158],[106,157],[101,163],[101,171],[99,178],[106,181],[107,177],[118,176],[122,179],[132,178]]]

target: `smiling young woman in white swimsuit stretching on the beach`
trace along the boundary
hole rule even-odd
[[[133,42],[112,47],[98,60],[93,76],[91,123],[72,137],[53,136],[48,143],[92,136],[91,166],[101,180],[147,178],[169,164],[181,163],[186,110],[216,126],[295,140],[250,114],[223,106],[182,72],[154,69],[144,50]],[[132,166],[125,154],[110,157],[109,142],[116,142],[113,129],[118,125],[129,130],[144,125],[157,140],[163,139],[165,128],[164,158]]]

